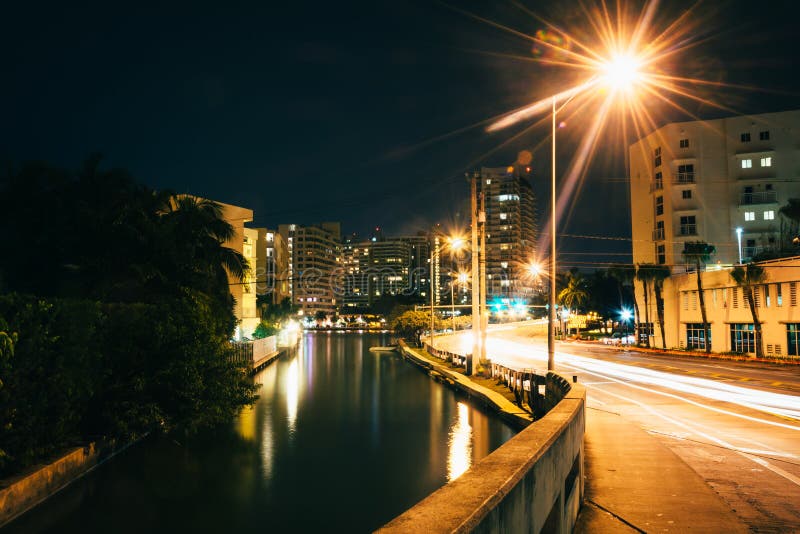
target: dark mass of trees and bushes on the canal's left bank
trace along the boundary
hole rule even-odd
[[[254,388],[229,363],[219,205],[99,161],[0,179],[0,476],[88,439],[228,420]]]

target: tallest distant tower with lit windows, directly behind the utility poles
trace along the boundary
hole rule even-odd
[[[536,216],[529,167],[483,167],[478,191],[486,205],[487,299],[528,299],[535,260]]]

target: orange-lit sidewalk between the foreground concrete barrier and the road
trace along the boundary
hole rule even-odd
[[[586,498],[575,532],[747,532],[675,453],[609,412],[586,411]]]

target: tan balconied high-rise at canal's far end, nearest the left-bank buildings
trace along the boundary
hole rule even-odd
[[[335,313],[337,297],[342,292],[340,224],[282,224],[278,231],[291,258],[288,271],[292,303],[305,315]]]

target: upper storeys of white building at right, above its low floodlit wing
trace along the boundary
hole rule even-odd
[[[716,247],[720,265],[780,248],[798,146],[800,110],[667,124],[631,145],[634,263],[682,272],[686,242]]]

